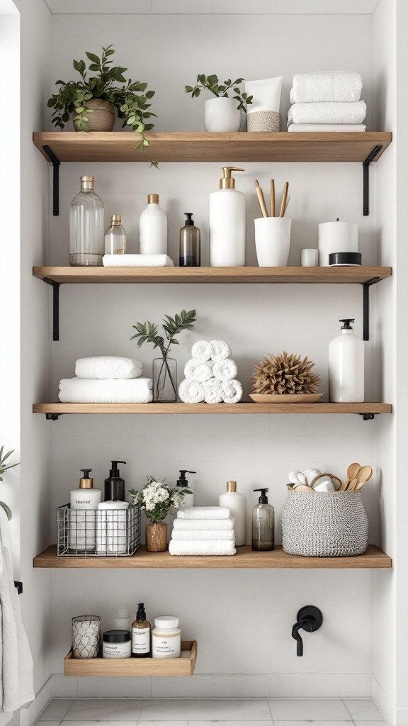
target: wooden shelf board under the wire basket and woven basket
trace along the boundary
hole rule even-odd
[[[146,552],[140,547],[131,557],[57,557],[57,545],[34,558],[34,567],[46,568],[390,568],[392,560],[385,552],[369,544],[364,555],[357,557],[298,557],[287,555],[282,547],[272,552],[253,552],[249,546],[237,547],[232,557],[173,557],[168,552]]]

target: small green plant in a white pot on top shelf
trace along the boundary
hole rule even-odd
[[[252,96],[242,93],[240,83],[243,78],[219,82],[218,76],[204,76],[199,73],[195,86],[185,86],[186,93],[197,98],[203,89],[210,91],[216,98],[205,102],[205,131],[240,131],[241,110],[247,113],[247,106],[252,103]],[[229,94],[233,93],[232,97]]]

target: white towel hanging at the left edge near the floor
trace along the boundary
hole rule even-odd
[[[33,658],[21,619],[12,561],[0,542],[0,726],[11,714],[33,701]]]

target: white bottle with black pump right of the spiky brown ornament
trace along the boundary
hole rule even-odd
[[[352,318],[345,318],[341,335],[329,346],[329,399],[333,403],[364,401],[364,342],[353,333]]]

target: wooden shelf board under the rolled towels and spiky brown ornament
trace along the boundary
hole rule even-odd
[[[391,413],[391,404],[33,404],[33,413],[128,413],[128,414],[219,414],[219,413]]]

